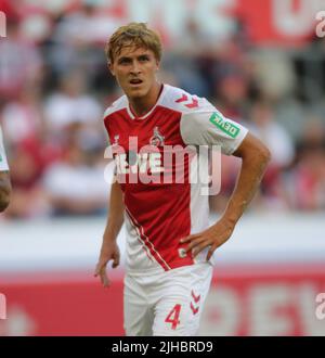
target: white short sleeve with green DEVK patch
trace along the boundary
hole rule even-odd
[[[181,136],[190,145],[220,145],[223,154],[232,155],[246,137],[248,129],[225,118],[207,100],[193,112],[182,114]]]

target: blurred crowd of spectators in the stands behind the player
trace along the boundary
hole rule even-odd
[[[28,8],[32,21],[22,3],[0,0],[8,14],[0,123],[14,188],[4,219],[104,214],[102,115],[121,94],[104,44],[120,24],[90,1],[64,11]],[[313,40],[308,47],[323,51]],[[185,39],[165,50],[160,79],[207,98],[269,146],[272,162],[251,210],[325,208],[325,93],[311,100],[303,92],[289,51],[255,48],[239,21],[218,41],[188,20]],[[237,158],[223,156],[214,210],[224,208],[238,168]]]

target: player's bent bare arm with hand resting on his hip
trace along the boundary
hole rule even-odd
[[[221,219],[207,230],[181,240],[188,243],[186,251],[193,250],[193,256],[210,246],[207,255],[207,259],[210,259],[214,250],[230,239],[236,222],[257,192],[271,158],[268,148],[249,132],[232,155],[242,158],[242,168]]]

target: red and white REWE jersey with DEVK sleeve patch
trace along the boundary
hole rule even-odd
[[[187,244],[180,243],[180,239],[209,225],[209,197],[203,195],[200,180],[191,180],[199,163],[199,154],[194,153],[199,145],[219,145],[223,154],[231,155],[247,129],[224,118],[206,99],[168,85],[146,115],[136,117],[123,95],[106,110],[104,123],[110,148],[119,148],[113,151],[118,153],[117,172],[127,178],[120,186],[126,205],[128,272],[155,273],[205,260],[207,250],[193,259],[184,252]],[[190,154],[178,162],[177,153],[184,153],[188,145]],[[208,166],[208,161],[202,163]],[[154,179],[139,180],[139,172],[144,171]],[[138,180],[131,180],[134,172]],[[180,176],[177,179],[180,172],[183,180]]]

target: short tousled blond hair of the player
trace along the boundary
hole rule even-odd
[[[161,41],[159,35],[150,29],[145,23],[130,23],[119,27],[108,39],[105,54],[108,62],[113,63],[125,47],[144,48],[152,50],[156,60],[161,59]]]

